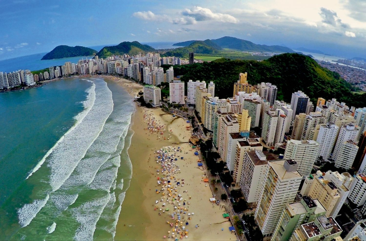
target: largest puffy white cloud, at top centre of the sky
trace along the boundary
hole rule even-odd
[[[215,20],[219,22],[227,22],[227,23],[238,23],[239,20],[234,16],[229,14],[221,14],[214,13],[209,8],[202,8],[195,6],[191,9],[186,8],[182,11],[183,16],[190,16],[194,18],[196,21],[207,21],[207,20]]]

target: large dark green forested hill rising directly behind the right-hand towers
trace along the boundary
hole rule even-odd
[[[169,66],[163,66],[167,68]],[[355,88],[336,72],[321,67],[315,60],[298,53],[284,53],[261,62],[254,60],[217,59],[212,62],[174,66],[181,80],[213,81],[219,98],[231,97],[239,73],[248,73],[249,84],[271,82],[277,85],[277,99],[291,101],[291,94],[305,92],[313,103],[318,97],[336,98],[349,106],[366,106],[366,94],[354,94]]]

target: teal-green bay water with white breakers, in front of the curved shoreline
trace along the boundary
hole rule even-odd
[[[0,240],[112,240],[132,174],[134,110],[102,78],[1,93]]]

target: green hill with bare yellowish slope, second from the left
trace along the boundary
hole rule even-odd
[[[146,44],[140,44],[138,41],[133,42],[121,42],[115,46],[103,47],[96,55],[99,58],[106,58],[112,55],[123,55],[125,53],[129,55],[137,55],[144,52],[153,52],[155,49]]]

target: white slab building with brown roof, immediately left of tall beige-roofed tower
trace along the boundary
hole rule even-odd
[[[259,201],[265,173],[267,170],[266,156],[262,151],[246,151],[244,153],[240,189],[248,203]]]

